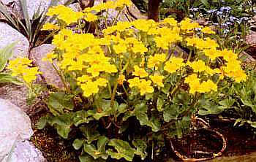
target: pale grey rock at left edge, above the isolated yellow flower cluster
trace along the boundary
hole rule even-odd
[[[7,23],[0,22],[0,49],[16,42],[13,58],[28,57],[29,41]]]

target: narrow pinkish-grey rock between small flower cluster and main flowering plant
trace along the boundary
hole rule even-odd
[[[42,72],[43,79],[45,79],[49,85],[63,89],[63,82],[61,82],[61,78],[59,77],[59,74],[56,72],[56,70],[53,69],[53,65],[49,61],[42,61],[42,58],[45,58],[46,55],[51,53],[54,49],[54,45],[50,44],[44,44],[39,47],[35,47],[31,50],[31,58],[39,68],[39,71]]]

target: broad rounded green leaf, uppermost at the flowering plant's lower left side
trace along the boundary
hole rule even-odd
[[[53,115],[61,115],[64,113],[64,109],[72,110],[74,108],[72,97],[72,95],[64,92],[50,94],[47,101],[50,112],[52,112]]]

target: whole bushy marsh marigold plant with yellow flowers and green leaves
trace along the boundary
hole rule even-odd
[[[73,146],[82,150],[80,161],[132,161],[135,155],[144,159],[146,148],[163,133],[181,137],[186,132],[203,99],[212,95],[221,101],[224,97],[218,95],[225,82],[246,80],[236,53],[221,50],[211,39],[211,28],[188,18],[113,22],[95,34],[81,27],[83,21],[97,24],[104,19],[99,12],[121,11],[126,5],[131,2],[108,1],[81,12],[57,6],[48,12],[59,21],[44,29],[59,32],[52,42],[56,50],[44,61],[56,61],[68,86],[50,94],[46,103],[51,114],[45,123],[66,139],[72,126],[79,128]],[[69,29],[71,23],[80,32]],[[190,52],[178,53],[178,46]],[[18,58],[9,68],[31,82],[38,69],[29,68],[30,63]],[[129,131],[136,122],[140,127]]]

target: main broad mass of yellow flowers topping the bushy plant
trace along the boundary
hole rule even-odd
[[[83,12],[70,13],[73,17],[69,20],[65,20],[67,13],[63,6],[50,9],[48,15],[58,15],[59,19],[69,24],[82,17],[97,19],[94,12],[120,9],[124,5],[130,5],[130,1],[108,1]],[[48,26],[45,25],[45,28]],[[198,36],[198,29],[203,34]],[[53,38],[56,53],[50,53],[45,58],[52,62],[59,55],[60,69],[64,74],[75,77],[86,97],[100,93],[101,88],[110,89],[114,87],[113,84],[123,85],[124,82],[130,89],[137,88],[141,96],[154,93],[155,88],[170,84],[167,77],[177,72],[182,72],[182,80],[189,85],[189,93],[192,94],[216,91],[217,82],[212,80],[214,76],[219,80],[226,77],[236,82],[246,80],[237,55],[229,50],[221,50],[217,42],[209,37],[215,34],[211,28],[200,26],[188,18],[180,23],[173,18],[159,23],[153,20],[118,22],[105,28],[102,34],[97,37],[62,28]],[[187,45],[192,50],[189,59],[172,55],[171,51],[177,43]],[[195,53],[193,58],[192,53]],[[116,83],[110,82],[111,76],[116,76]]]

